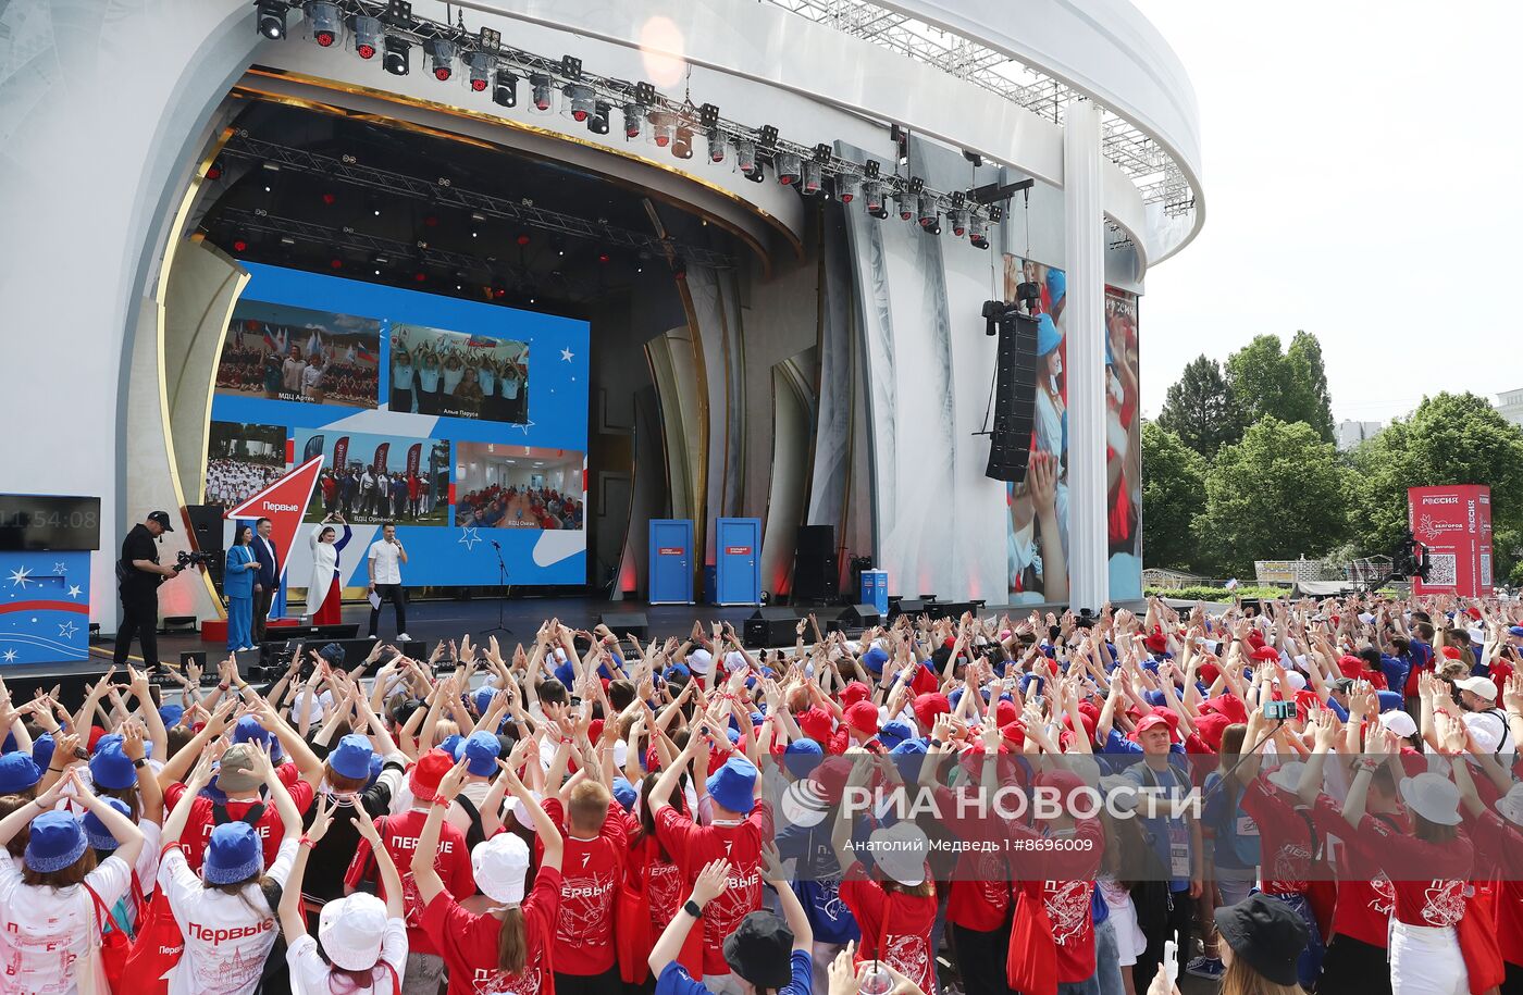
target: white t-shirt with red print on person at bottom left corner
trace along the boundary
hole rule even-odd
[[[107,908],[133,881],[133,869],[111,855],[85,875]],[[94,902],[90,892],[27,887],[17,861],[0,861],[0,990],[29,995],[73,995],[79,971],[96,971],[93,990],[105,990],[101,958],[85,958],[96,946]]]

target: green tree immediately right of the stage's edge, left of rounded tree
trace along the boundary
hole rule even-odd
[[[1193,569],[1189,523],[1206,510],[1206,461],[1153,421],[1142,423],[1142,508],[1144,566]]]

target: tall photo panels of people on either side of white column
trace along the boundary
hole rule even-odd
[[[1051,493],[1028,484],[1007,484],[1010,526],[1007,563],[1011,604],[1068,599],[1068,329],[1063,321],[1068,280],[1062,269],[1019,256],[1005,256],[1005,300],[1016,286],[1036,283],[1037,386],[1031,450],[1057,458]],[[1141,423],[1138,394],[1136,295],[1106,288],[1106,461],[1109,508],[1109,571],[1112,601],[1142,596],[1141,557]],[[1062,575],[1058,575],[1062,566]]]

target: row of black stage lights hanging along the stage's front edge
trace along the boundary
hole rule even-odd
[[[414,43],[408,35],[417,35],[434,79],[449,82],[457,67],[463,67],[466,85],[475,93],[490,90],[492,102],[500,106],[518,106],[518,87],[525,82],[530,113],[553,114],[559,103],[562,116],[585,123],[592,134],[606,135],[617,110],[629,141],[644,137],[656,148],[670,151],[675,158],[690,160],[701,135],[711,163],[723,163],[728,155],[734,155],[736,167],[752,183],[766,180],[766,166],[771,163],[777,181],[804,196],[835,196],[842,204],[860,198],[867,213],[879,219],[889,216],[892,201],[899,218],[918,222],[926,234],[941,234],[944,219],[952,234],[966,234],[976,248],[987,250],[988,225],[998,224],[1004,216],[998,204],[979,210],[963,192],[947,195],[949,207],[943,210],[943,195],[926,190],[918,176],[883,176],[876,161],[868,161],[860,176],[844,170],[832,164],[830,146],[824,143],[812,151],[780,148],[778,131],[771,125],[757,129],[754,137],[726,131],[720,126],[719,108],[713,103],[698,108],[696,119],[693,114],[667,110],[647,82],[629,87],[621,100],[605,99],[609,94],[580,82],[582,61],[570,55],[542,67],[554,67],[565,81],[550,72],[527,72],[521,78],[512,68],[500,65],[495,55],[501,49],[498,32],[483,27],[480,37],[475,37],[448,24],[414,18],[413,5],[407,0],[388,0],[379,17],[362,12],[367,9],[364,5],[350,5],[356,12],[346,12],[332,0],[256,0],[259,33],[283,40],[286,15],[294,6],[305,11],[308,37],[315,44],[332,49],[349,32],[355,53],[367,61],[381,55],[382,67],[393,76],[411,73]],[[370,6],[379,9],[378,5]]]

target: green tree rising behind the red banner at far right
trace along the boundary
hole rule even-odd
[[[1491,487],[1494,575],[1508,575],[1523,532],[1523,428],[1476,394],[1424,397],[1352,452],[1357,540],[1366,555],[1389,552],[1407,526],[1407,488]]]

